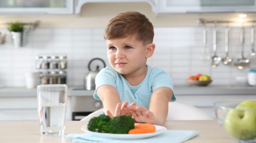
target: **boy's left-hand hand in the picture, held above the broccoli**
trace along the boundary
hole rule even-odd
[[[135,106],[135,105],[136,105],[135,102],[130,104],[130,106]],[[119,116],[119,115],[130,115],[131,116],[131,112],[127,107],[128,107],[128,102],[124,102],[123,104],[118,103],[118,104],[116,104],[115,114],[112,115],[111,112],[109,110],[107,110],[106,115],[109,115],[111,118]]]

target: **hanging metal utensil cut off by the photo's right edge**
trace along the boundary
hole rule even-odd
[[[251,28],[251,31],[250,31],[250,34],[251,34],[251,53],[250,55],[248,56],[248,59],[250,60],[250,68],[251,69],[254,69],[256,68],[256,53],[255,53],[255,50],[254,50],[254,23],[253,23],[253,26]]]

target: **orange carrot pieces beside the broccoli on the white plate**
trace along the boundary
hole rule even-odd
[[[156,127],[151,123],[138,123],[134,129],[129,130],[128,134],[145,134],[156,132]]]

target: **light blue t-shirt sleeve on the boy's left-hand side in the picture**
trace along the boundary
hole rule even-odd
[[[114,75],[115,73],[109,70],[108,67],[105,67],[99,71],[95,78],[96,87],[95,93],[93,94],[93,98],[100,100],[96,91],[102,85],[111,85],[113,87],[116,87],[116,78]]]

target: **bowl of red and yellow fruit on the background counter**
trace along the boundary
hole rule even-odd
[[[190,76],[187,83],[191,86],[207,86],[212,82],[212,79],[208,75],[197,74],[196,76]]]

